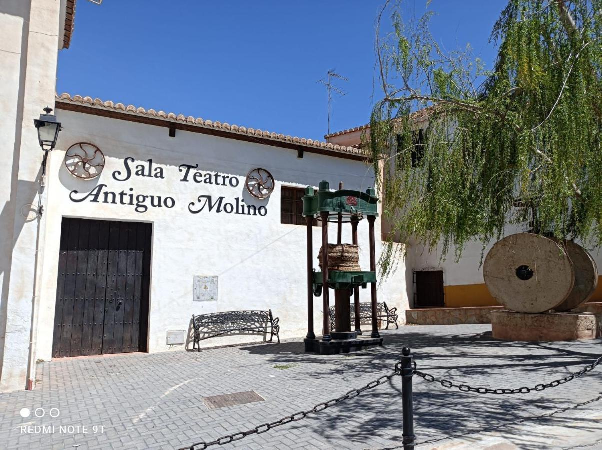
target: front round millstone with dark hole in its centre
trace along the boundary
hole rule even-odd
[[[496,242],[485,257],[483,277],[491,295],[506,309],[533,314],[559,306],[575,280],[566,251],[532,233]]]

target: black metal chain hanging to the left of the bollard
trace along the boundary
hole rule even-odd
[[[204,450],[213,445],[229,444],[236,440],[241,440],[247,436],[251,436],[252,434],[262,434],[262,433],[265,433],[266,431],[272,430],[272,428],[280,427],[281,425],[290,424],[290,422],[298,422],[301,419],[305,419],[310,414],[319,413],[320,411],[324,411],[325,409],[330,408],[331,406],[334,406],[336,404],[339,404],[340,402],[343,402],[343,401],[346,401],[346,400],[349,400],[352,398],[356,398],[361,393],[363,393],[367,390],[370,390],[370,389],[374,389],[374,387],[380,386],[381,384],[388,383],[389,381],[391,381],[391,378],[396,377],[397,375],[401,375],[401,374],[402,374],[401,363],[397,363],[395,365],[394,372],[391,372],[388,375],[383,375],[382,377],[377,378],[374,381],[370,381],[370,383],[366,384],[364,387],[360,387],[359,389],[352,389],[343,396],[334,398],[334,399],[326,401],[326,402],[318,403],[310,410],[299,411],[290,416],[282,418],[276,422],[271,422],[269,424],[262,424],[262,425],[259,425],[258,427],[252,428],[251,430],[247,430],[247,431],[239,431],[238,433],[227,434],[226,436],[222,436],[216,440],[212,440],[211,442],[199,442],[199,443],[191,445],[190,447],[184,447],[179,450],[197,450],[197,449]]]

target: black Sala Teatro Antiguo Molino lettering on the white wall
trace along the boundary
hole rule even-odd
[[[111,175],[114,180],[119,182],[128,181],[132,175],[145,178],[165,179],[162,167],[153,167],[152,159],[146,162],[133,164],[134,158],[125,158],[123,160],[123,172],[116,170]],[[133,167],[133,173],[132,173]],[[238,186],[238,177],[223,175],[219,172],[203,172],[197,170],[198,164],[182,164],[178,167],[179,181],[182,183],[196,183],[203,185],[229,186],[236,188]],[[75,203],[81,203],[87,200],[90,203],[105,203],[107,205],[123,205],[134,207],[135,212],[146,212],[149,208],[167,208],[172,209],[176,205],[173,197],[147,196],[144,194],[135,194],[134,188],[122,190],[119,193],[107,190],[107,185],[99,184],[87,194],[79,191],[71,191],[69,200]],[[227,201],[225,197],[199,196],[196,202],[188,203],[188,211],[191,214],[199,212],[214,212],[220,214],[241,214],[241,215],[260,215],[264,217],[267,214],[265,206],[246,205],[240,197]]]

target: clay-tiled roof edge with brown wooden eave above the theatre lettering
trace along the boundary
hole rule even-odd
[[[287,148],[308,149],[309,153],[320,153],[330,154],[331,156],[355,156],[352,159],[367,159],[368,153],[358,147],[346,147],[334,145],[321,141],[314,141],[306,138],[285,136],[283,134],[277,134],[275,132],[262,131],[255,128],[246,128],[244,126],[229,125],[228,123],[212,122],[211,120],[203,120],[200,117],[194,118],[191,116],[184,117],[182,114],[176,116],[173,112],[155,111],[154,109],[136,108],[133,105],[123,105],[123,103],[103,102],[100,99],[92,99],[92,97],[81,97],[78,95],[70,96],[69,94],[60,94],[56,96],[56,108],[57,109],[68,109],[73,111],[87,112],[90,114],[96,114],[101,112],[107,112],[110,114],[98,114],[110,117],[116,117],[118,119],[133,120],[134,118],[140,117],[145,119],[152,119],[154,125],[161,126],[172,126],[174,128],[194,130],[197,132],[203,132],[206,130],[207,134],[217,134],[222,137],[231,138],[245,138],[247,141],[262,141],[262,143],[268,143],[275,145],[282,143],[282,146]],[[85,108],[82,109],[82,107]],[[116,116],[116,114],[119,116]],[[128,119],[129,118],[129,119]],[[134,120],[135,122],[149,122],[148,120]],[[160,123],[158,123],[159,121]],[[167,122],[165,124],[164,122]],[[193,127],[193,128],[190,128]],[[210,131],[219,131],[210,132]],[[247,138],[248,137],[248,138]],[[252,138],[252,139],[249,139]],[[291,146],[290,144],[293,144]],[[311,151],[311,149],[322,150]]]

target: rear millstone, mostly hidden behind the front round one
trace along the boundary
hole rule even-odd
[[[560,312],[578,308],[588,301],[598,287],[598,267],[589,251],[573,241],[562,242],[562,248],[568,253],[575,270],[573,291],[555,309]]]

